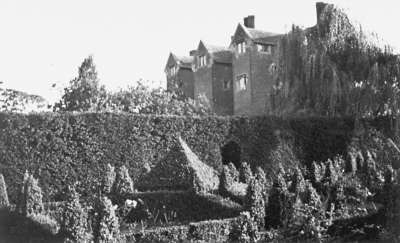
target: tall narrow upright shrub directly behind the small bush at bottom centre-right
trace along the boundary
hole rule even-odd
[[[253,178],[248,184],[246,208],[258,227],[263,228],[265,225],[265,200],[261,181],[256,178]]]

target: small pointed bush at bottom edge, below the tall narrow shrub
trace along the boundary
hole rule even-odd
[[[259,240],[257,223],[249,212],[240,213],[239,219],[232,225],[229,242],[257,242]]]

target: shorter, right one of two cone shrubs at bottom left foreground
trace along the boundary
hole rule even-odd
[[[98,243],[121,242],[116,206],[107,197],[99,198],[96,205],[97,217],[93,227],[94,241]]]

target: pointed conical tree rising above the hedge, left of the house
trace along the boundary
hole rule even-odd
[[[99,111],[106,106],[107,93],[99,86],[93,57],[85,58],[79,67],[78,77],[64,89],[61,100],[54,105],[55,111]]]

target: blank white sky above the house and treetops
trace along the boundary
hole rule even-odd
[[[314,0],[0,0],[0,81],[54,101],[94,56],[109,89],[165,83],[170,51],[186,55],[199,40],[228,45],[237,24],[255,15],[257,29],[284,33],[315,24]],[[398,0],[327,0],[400,47]],[[57,88],[51,84],[57,83]]]

